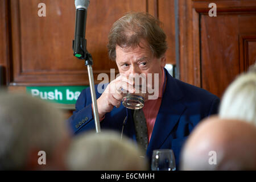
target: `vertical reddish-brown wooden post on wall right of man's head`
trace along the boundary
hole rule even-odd
[[[199,14],[192,0],[179,1],[180,80],[201,86]]]

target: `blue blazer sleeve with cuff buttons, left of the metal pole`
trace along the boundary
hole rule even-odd
[[[67,122],[73,134],[77,134],[81,129],[95,129],[89,88],[82,90],[76,102],[76,110]]]

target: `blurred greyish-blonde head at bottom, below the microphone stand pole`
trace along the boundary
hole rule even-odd
[[[125,136],[110,130],[89,131],[74,138],[67,155],[69,170],[147,170],[142,152]]]

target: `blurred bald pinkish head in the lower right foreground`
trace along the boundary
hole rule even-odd
[[[189,136],[181,154],[182,170],[256,170],[256,127],[212,117]]]

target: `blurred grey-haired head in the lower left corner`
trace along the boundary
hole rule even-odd
[[[26,94],[0,92],[1,170],[64,169],[68,143],[68,128],[55,107]]]

